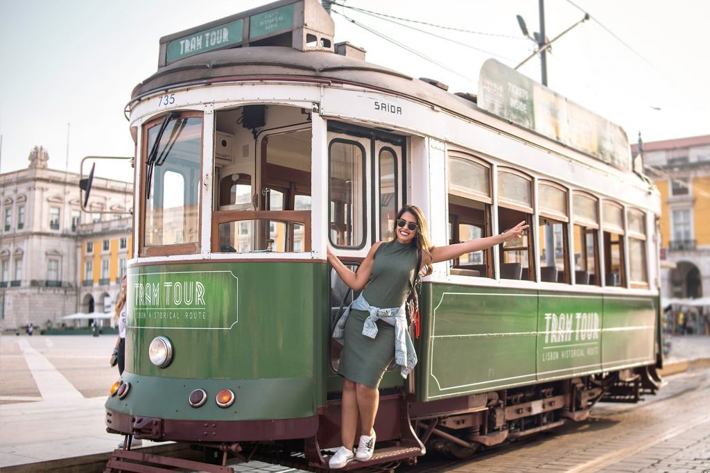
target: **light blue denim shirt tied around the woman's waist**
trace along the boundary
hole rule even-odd
[[[381,309],[371,306],[360,294],[360,297],[345,309],[335,324],[333,339],[339,344],[344,343],[345,322],[348,320],[351,309],[362,310],[370,314],[362,327],[362,335],[366,337],[375,338],[377,336],[377,320],[383,320],[395,327],[395,363],[402,366],[400,373],[403,378],[406,378],[417,364],[417,352],[415,352],[412,337],[407,329],[404,304],[401,307]]]

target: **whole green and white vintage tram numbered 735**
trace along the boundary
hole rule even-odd
[[[126,371],[106,403],[123,452],[327,469],[330,333],[355,295],[326,249],[357,266],[407,202],[434,244],[530,232],[424,278],[420,362],[386,374],[367,464],[466,457],[655,393],[660,197],[624,132],[496,61],[478,96],[452,94],[333,29],[316,0],[268,4],[162,38],[133,90]]]

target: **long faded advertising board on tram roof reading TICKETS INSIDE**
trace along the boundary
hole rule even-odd
[[[478,104],[615,168],[630,170],[628,138],[621,126],[494,59],[481,67]]]

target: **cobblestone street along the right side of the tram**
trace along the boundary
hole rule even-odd
[[[437,466],[422,460],[402,473],[710,471],[710,369],[671,376],[638,404],[600,403],[589,420]]]

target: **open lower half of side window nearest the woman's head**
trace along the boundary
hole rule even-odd
[[[490,205],[449,194],[449,243],[486,237],[490,232]],[[491,249],[467,253],[454,259],[451,273],[456,276],[493,276]]]

